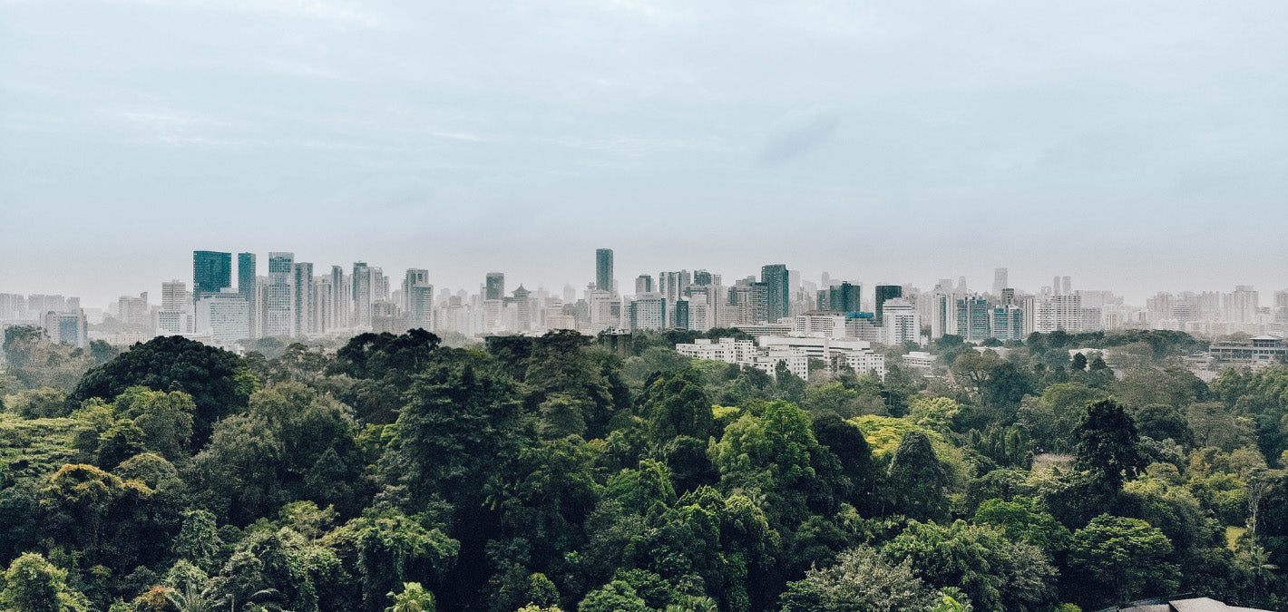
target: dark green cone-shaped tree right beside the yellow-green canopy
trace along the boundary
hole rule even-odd
[[[948,517],[948,473],[930,438],[920,430],[904,434],[890,461],[890,497],[895,512],[917,521],[943,521]]]

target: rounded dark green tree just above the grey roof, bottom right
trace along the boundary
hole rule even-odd
[[[1079,599],[1090,606],[1126,602],[1144,591],[1172,593],[1177,569],[1172,542],[1136,518],[1101,514],[1073,533],[1069,568],[1083,581]]]

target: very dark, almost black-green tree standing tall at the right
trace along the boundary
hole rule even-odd
[[[1106,491],[1122,490],[1123,479],[1133,478],[1148,464],[1135,421],[1113,399],[1088,405],[1074,434],[1078,464],[1091,470]]]

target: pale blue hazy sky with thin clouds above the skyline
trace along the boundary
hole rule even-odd
[[[1283,0],[0,0],[0,291],[102,307],[193,250],[558,290],[612,247],[622,287],[1269,294],[1284,32]]]

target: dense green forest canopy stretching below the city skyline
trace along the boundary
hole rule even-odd
[[[1288,609],[1288,368],[1208,384],[1184,334],[806,383],[693,332],[97,362],[8,331],[0,609]]]

